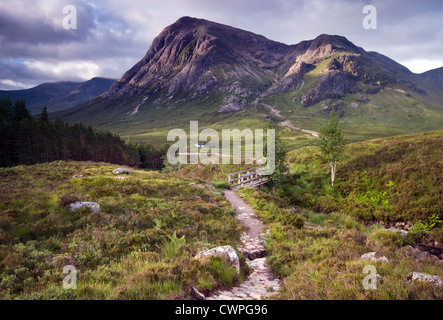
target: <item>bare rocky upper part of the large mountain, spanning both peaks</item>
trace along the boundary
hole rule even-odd
[[[179,96],[180,101],[218,97],[219,112],[235,112],[260,97],[300,89],[311,71],[316,81],[298,100],[304,107],[350,92],[376,93],[409,72],[339,35],[321,34],[286,45],[231,26],[182,17],[153,40],[145,57],[103,98],[133,97],[148,105],[171,104]]]

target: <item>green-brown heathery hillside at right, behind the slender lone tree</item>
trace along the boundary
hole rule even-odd
[[[290,153],[294,204],[383,221],[442,216],[443,130],[347,145],[329,186],[328,165],[315,147]]]

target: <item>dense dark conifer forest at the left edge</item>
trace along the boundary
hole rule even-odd
[[[81,123],[69,125],[58,118],[52,123],[46,107],[39,118],[32,118],[22,100],[14,107],[9,99],[0,101],[0,124],[0,166],[75,160],[161,169],[167,151],[125,143],[115,134]]]

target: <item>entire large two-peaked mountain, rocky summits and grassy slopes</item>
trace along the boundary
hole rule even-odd
[[[108,91],[58,116],[166,142],[190,120],[215,129],[264,119],[318,130],[334,108],[351,140],[443,127],[443,90],[343,36],[286,45],[203,19],[165,28]]]

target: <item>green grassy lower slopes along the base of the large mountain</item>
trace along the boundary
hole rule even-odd
[[[423,83],[425,88],[432,87]],[[442,128],[443,94],[433,90],[424,96],[400,85],[386,87],[376,94],[347,94],[338,100],[327,99],[310,107],[304,107],[299,101],[294,102],[302,92],[282,93],[264,99],[266,104],[279,110],[282,117],[271,115],[261,104],[249,105],[234,113],[219,113],[224,99],[221,94],[166,105],[157,101],[144,105],[137,114],[132,114],[133,105],[140,104],[141,97],[114,100],[115,108],[109,108],[109,102],[97,99],[89,106],[79,106],[59,115],[70,122],[81,121],[111,130],[124,139],[162,145],[166,143],[169,130],[187,130],[189,121],[195,120],[199,121],[201,129],[255,129],[265,128],[265,118],[271,116],[277,121],[289,119],[296,127],[318,131],[333,107],[339,111],[349,139],[361,141]],[[129,103],[132,100],[134,103]],[[354,103],[358,107],[353,108]],[[299,132],[290,130],[286,135],[288,139],[300,137]]]

